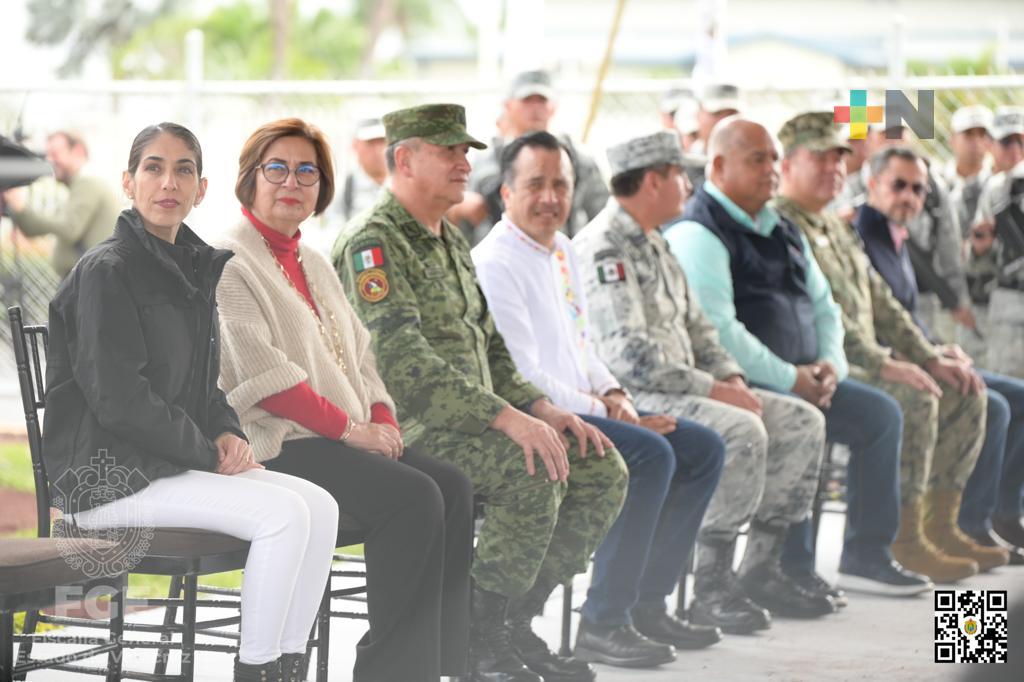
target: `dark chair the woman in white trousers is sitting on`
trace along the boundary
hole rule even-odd
[[[22,387],[22,402],[25,408],[25,421],[28,428],[29,450],[32,455],[32,468],[36,485],[37,529],[40,538],[51,535],[50,495],[43,463],[42,429],[39,412],[45,407],[45,388],[43,382],[43,359],[46,355],[47,330],[45,326],[26,326],[22,319],[22,310],[17,306],[8,308],[11,338],[14,346],[14,357],[17,363],[18,381]],[[54,535],[61,535],[66,529],[61,522],[53,524]],[[113,534],[117,536],[115,530]],[[127,535],[127,534],[126,534]],[[164,607],[163,624],[147,625],[126,622],[124,630],[133,632],[157,633],[160,641],[123,640],[123,647],[152,648],[158,650],[154,672],[143,673],[126,671],[126,677],[141,680],[160,680],[175,682],[190,682],[195,673],[197,651],[219,651],[237,653],[239,650],[238,630],[225,631],[222,628],[237,626],[241,622],[240,591],[200,586],[200,576],[219,573],[227,570],[239,570],[245,567],[249,553],[249,543],[231,536],[211,532],[196,528],[156,528],[150,546],[144,555],[131,568],[130,572],[150,576],[167,576],[171,578],[171,586],[166,599],[128,599],[127,606]],[[325,599],[322,610],[329,606],[329,588],[325,588]],[[181,594],[183,590],[183,595]],[[230,599],[199,599],[200,594],[218,597],[233,597]],[[197,621],[197,609],[226,609],[230,615],[208,621]],[[177,609],[181,608],[181,622],[176,619]],[[325,619],[318,617],[317,623]],[[26,613],[25,632],[35,633],[37,624],[49,623],[63,626],[85,628],[105,628],[105,622],[82,617],[55,616],[41,613],[38,609],[29,609]],[[310,640],[310,646],[318,647],[322,665],[317,666],[317,682],[327,681],[327,651],[329,649],[330,628],[321,627],[315,638]],[[174,640],[177,635],[177,641]],[[196,636],[204,635],[212,638],[228,640],[230,643],[197,642]],[[32,655],[33,639],[29,638],[18,650],[19,666],[34,665]],[[180,667],[177,675],[167,674],[167,660],[171,650],[180,651]],[[106,671],[96,668],[58,665],[56,670],[67,670],[93,675],[105,675]],[[24,675],[17,679],[24,679]]]

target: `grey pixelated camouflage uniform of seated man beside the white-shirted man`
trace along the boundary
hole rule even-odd
[[[708,397],[742,371],[718,341],[660,232],[645,235],[612,199],[572,241],[595,346],[640,410],[690,419],[725,439],[725,468],[702,541],[729,541],[756,518],[803,520],[817,485],[824,417],[799,398],[756,390],[764,419]]]

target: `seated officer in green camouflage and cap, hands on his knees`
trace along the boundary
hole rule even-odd
[[[384,127],[390,187],[339,236],[332,259],[372,333],[407,442],[458,465],[485,500],[473,679],[591,680],[588,664],[551,653],[529,622],[586,569],[623,505],[626,465],[600,431],[516,372],[469,245],[443,218],[463,198],[469,146],[483,146],[463,108],[400,110]]]

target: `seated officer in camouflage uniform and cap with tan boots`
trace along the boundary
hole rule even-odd
[[[950,387],[950,363],[871,267],[857,233],[824,210],[838,187],[814,178],[845,174],[843,155],[834,153],[844,144],[831,115],[802,114],[779,137],[787,165],[776,209],[804,232],[843,309],[850,376],[896,398],[903,411],[896,560],[936,582],[971,576],[979,562],[1005,563],[1005,555],[979,547],[956,525],[959,496],[984,435],[984,397]]]

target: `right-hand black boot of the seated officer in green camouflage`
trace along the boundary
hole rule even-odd
[[[530,627],[534,616],[540,615],[554,589],[553,585],[539,579],[526,594],[509,602],[505,622],[512,647],[527,668],[544,678],[544,682],[593,682],[597,679],[593,666],[556,654]]]

